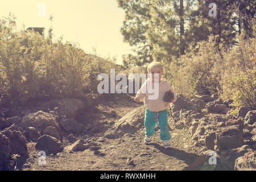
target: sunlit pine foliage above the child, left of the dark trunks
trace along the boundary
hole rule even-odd
[[[118,0],[118,6],[126,13],[121,28],[123,39],[130,46],[138,46],[134,49],[136,56],[123,56],[126,66],[143,66],[152,60],[170,61],[170,55],[184,54],[183,0]]]

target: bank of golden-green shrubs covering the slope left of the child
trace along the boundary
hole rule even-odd
[[[63,38],[52,42],[51,34],[44,38],[14,30],[13,16],[0,19],[0,101],[5,106],[26,105],[40,96],[79,98],[97,92],[98,74],[122,70],[115,58],[87,55]]]

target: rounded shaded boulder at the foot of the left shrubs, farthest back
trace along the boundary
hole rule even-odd
[[[76,118],[84,109],[84,105],[80,100],[64,98],[55,107],[55,114],[61,119],[63,118]]]

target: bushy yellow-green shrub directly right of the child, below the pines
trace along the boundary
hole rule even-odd
[[[191,52],[179,59],[172,59],[169,65],[164,64],[166,77],[176,92],[187,97],[196,93],[217,92],[220,87],[220,73],[215,72],[214,67],[216,63],[221,63],[221,56],[215,39],[214,36],[209,36],[209,40],[200,42],[199,47],[193,48]]]

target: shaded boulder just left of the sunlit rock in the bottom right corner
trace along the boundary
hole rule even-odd
[[[250,147],[244,145],[239,148],[233,148],[221,152],[220,161],[222,166],[227,171],[233,171],[235,166],[235,161],[237,158],[243,156],[246,152],[250,151]]]

